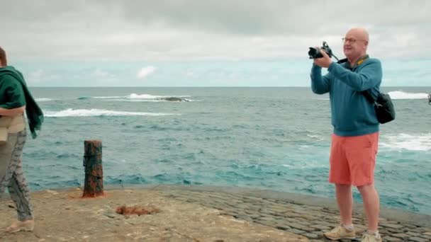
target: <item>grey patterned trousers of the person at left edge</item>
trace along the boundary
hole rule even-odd
[[[26,139],[27,132],[24,129],[16,134],[9,134],[7,143],[0,144],[0,195],[7,187],[20,221],[33,219],[30,192],[23,175],[22,157]]]

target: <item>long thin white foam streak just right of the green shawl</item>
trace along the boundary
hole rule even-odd
[[[91,116],[164,116],[176,115],[173,113],[143,113],[143,112],[123,112],[103,109],[72,109],[61,111],[46,111],[46,117],[91,117]]]

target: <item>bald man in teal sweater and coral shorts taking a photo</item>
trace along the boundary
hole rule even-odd
[[[355,238],[352,224],[352,186],[356,186],[364,201],[368,231],[362,241],[381,241],[378,231],[379,195],[374,188],[374,167],[379,142],[379,121],[374,105],[362,91],[379,95],[382,70],[379,59],[366,54],[369,34],[364,28],[353,28],[343,40],[347,62],[332,62],[321,51],[311,68],[313,93],[330,95],[333,134],[330,149],[329,182],[335,184],[341,224],[324,235],[332,240]],[[328,74],[322,76],[322,68]]]

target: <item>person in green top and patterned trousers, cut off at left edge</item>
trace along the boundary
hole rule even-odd
[[[20,71],[8,66],[0,47],[0,194],[6,187],[16,204],[18,221],[6,231],[33,231],[34,216],[30,192],[23,175],[23,146],[27,139],[26,112],[33,139],[40,130],[43,113],[35,103]]]

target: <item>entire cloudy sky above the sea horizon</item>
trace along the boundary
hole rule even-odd
[[[369,30],[387,86],[431,85],[427,0],[0,4],[0,46],[29,86],[307,86],[308,47],[344,57],[353,27]]]

